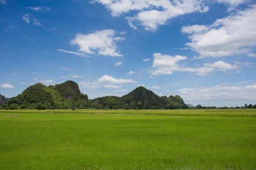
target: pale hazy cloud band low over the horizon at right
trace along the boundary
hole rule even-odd
[[[216,85],[214,87],[197,87],[179,89],[180,96],[186,103],[214,103],[223,106],[227,103],[244,104],[246,101],[255,101],[256,84],[247,86]],[[226,102],[225,102],[226,103]],[[227,104],[226,103],[226,104]]]

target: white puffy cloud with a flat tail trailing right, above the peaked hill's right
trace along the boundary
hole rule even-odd
[[[162,55],[161,53],[154,53],[154,62],[151,73],[153,75],[159,74],[172,74],[173,71],[186,71],[193,72],[197,75],[206,75],[214,71],[228,71],[237,69],[236,64],[228,64],[221,60],[214,63],[205,63],[203,67],[186,67],[180,66],[179,62],[186,60],[186,56],[176,55],[175,57],[170,55]]]

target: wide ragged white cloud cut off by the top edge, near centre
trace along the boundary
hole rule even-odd
[[[201,0],[175,0],[172,2],[168,0],[94,0],[94,2],[105,5],[113,17],[118,17],[123,13],[136,13],[131,17],[125,17],[129,25],[137,29],[133,22],[138,22],[146,30],[151,31],[179,15],[208,10]]]

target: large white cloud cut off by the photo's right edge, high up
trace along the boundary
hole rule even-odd
[[[248,53],[256,46],[256,5],[236,11],[226,18],[216,20],[212,25],[192,25],[182,27],[191,43],[192,50],[203,57],[223,57]],[[195,31],[193,27],[200,27]]]

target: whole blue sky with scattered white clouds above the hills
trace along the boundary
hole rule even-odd
[[[76,81],[187,104],[256,104],[255,0],[0,0],[0,93]]]

